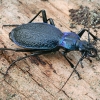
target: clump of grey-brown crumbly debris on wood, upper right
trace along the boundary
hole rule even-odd
[[[86,28],[100,28],[100,11],[90,10],[87,6],[80,6],[79,9],[70,9],[69,12],[72,23],[84,25]]]

